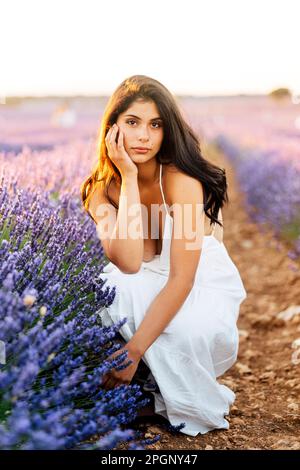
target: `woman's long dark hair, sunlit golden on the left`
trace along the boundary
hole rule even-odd
[[[106,105],[97,144],[97,164],[81,185],[85,210],[92,217],[88,210],[89,197],[100,181],[104,185],[107,199],[118,209],[108,195],[108,187],[112,178],[121,185],[122,177],[107,154],[105,137],[119,114],[126,111],[138,99],[145,102],[153,101],[163,121],[164,137],[156,154],[157,161],[172,163],[184,173],[198,179],[203,185],[204,212],[211,219],[210,224],[215,222],[223,227],[218,220],[218,213],[224,203],[228,202],[225,169],[217,167],[202,156],[198,138],[184,120],[175,97],[162,83],[146,75],[132,75],[123,80]]]

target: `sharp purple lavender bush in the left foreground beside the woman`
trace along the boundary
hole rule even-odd
[[[55,197],[54,197],[55,196]],[[0,449],[112,449],[153,443],[127,425],[141,400],[137,384],[105,391],[120,365],[113,342],[126,318],[102,327],[115,289],[97,275],[103,249],[79,198],[0,187]],[[155,440],[157,440],[155,438]]]

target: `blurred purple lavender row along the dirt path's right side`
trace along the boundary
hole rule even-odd
[[[242,149],[226,136],[213,140],[234,164],[246,195],[246,209],[259,226],[272,229],[277,240],[290,244],[289,256],[300,257],[300,171],[276,151]]]

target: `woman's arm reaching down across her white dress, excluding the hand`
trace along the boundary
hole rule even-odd
[[[188,297],[199,264],[203,236],[203,188],[181,172],[168,176],[168,199],[173,213],[170,273],[166,285],[150,304],[126,349],[138,357],[164,331]]]

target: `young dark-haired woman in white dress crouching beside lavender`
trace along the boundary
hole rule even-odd
[[[216,378],[236,361],[247,294],[222,241],[225,170],[201,155],[160,82],[134,75],[115,90],[97,166],[81,191],[110,260],[100,277],[116,286],[102,321],[127,318],[122,350],[133,361],[107,374],[103,387],[129,384],[142,360],[158,386],[155,413],[174,426],[184,422],[191,436],[228,429],[235,394]],[[156,218],[153,206],[162,209]]]

